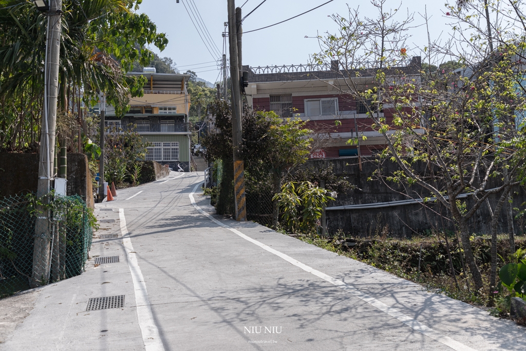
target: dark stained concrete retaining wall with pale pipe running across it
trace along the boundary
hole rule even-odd
[[[357,204],[371,204],[379,202],[390,202],[396,200],[409,199],[406,195],[413,198],[428,196],[429,193],[420,186],[406,187],[392,182],[382,182],[381,180],[368,180],[373,177],[373,172],[381,172],[382,175],[390,175],[399,168],[391,162],[384,162],[381,166],[374,162],[374,158],[363,158],[362,171],[360,172],[358,158],[344,158],[331,160],[309,160],[304,167],[319,169],[333,165],[333,171],[340,176],[346,176],[349,182],[357,189],[350,190],[346,194],[338,194],[336,201],[330,202],[328,206],[344,206]],[[424,168],[423,166],[421,168]],[[425,171],[422,169],[421,171]],[[494,181],[488,188],[497,187]],[[521,207],[526,202],[526,194],[520,187],[514,189],[513,207]],[[404,195],[405,194],[405,195]],[[492,196],[490,199],[491,208],[495,208],[498,197]],[[468,207],[472,200],[468,198]],[[453,223],[446,209],[439,204],[423,206],[421,204],[411,204],[396,207],[383,207],[375,209],[358,210],[330,210],[327,211],[328,230],[336,233],[343,230],[347,235],[353,236],[373,236],[384,230],[388,235],[394,237],[410,237],[416,233],[423,233],[433,228],[446,228],[452,230]],[[502,211],[499,230],[507,232],[505,224],[506,214]],[[474,233],[486,234],[490,232],[491,216],[487,205],[479,208],[478,212],[471,218],[471,230]],[[515,233],[519,233],[519,223],[515,222]]]

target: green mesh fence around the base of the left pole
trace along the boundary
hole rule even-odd
[[[90,209],[79,196],[57,197],[52,208],[48,234],[35,235],[36,197],[0,200],[0,297],[84,272]]]

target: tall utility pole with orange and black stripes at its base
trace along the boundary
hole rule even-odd
[[[236,21],[236,9],[234,0],[228,0],[228,42],[230,44],[230,84],[232,91],[232,141],[234,142],[234,203],[236,210],[236,220],[244,222],[247,220],[247,208],[245,202],[245,169],[240,155],[242,140],[242,111],[241,111],[241,84],[239,76],[239,57],[238,55],[238,28],[242,33],[241,23]]]

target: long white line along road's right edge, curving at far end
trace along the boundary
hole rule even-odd
[[[192,192],[188,196],[190,197],[190,202],[192,203],[192,205],[194,205],[194,207],[201,214],[205,215],[210,220],[212,220],[212,222],[216,223],[217,225],[219,225],[221,227],[224,227],[224,228],[230,230],[231,232],[239,235],[240,237],[244,238],[245,240],[248,240],[252,244],[255,244],[255,245],[261,247],[262,249],[267,250],[269,253],[274,254],[274,255],[286,260],[288,263],[305,270],[305,272],[308,272],[308,273],[310,273],[312,275],[315,275],[315,276],[325,280],[326,282],[329,282],[329,283],[331,283],[333,285],[336,285],[340,289],[343,289],[346,292],[358,297],[360,300],[362,300],[364,302],[367,302],[368,304],[378,308],[379,310],[381,310],[382,312],[388,314],[389,316],[398,319],[400,322],[402,322],[403,324],[405,324],[408,327],[412,328],[413,330],[416,330],[417,332],[419,332],[419,333],[421,333],[421,334],[423,334],[423,335],[425,335],[427,337],[430,337],[431,339],[437,340],[439,343],[442,343],[442,344],[444,344],[446,346],[449,346],[453,350],[457,350],[457,351],[476,351],[475,349],[473,349],[473,348],[471,348],[471,347],[469,347],[467,345],[459,343],[457,340],[453,340],[449,336],[444,336],[444,335],[436,332],[435,330],[431,329],[430,327],[418,322],[418,320],[404,315],[403,313],[401,313],[396,308],[389,307],[386,304],[384,304],[383,302],[381,302],[380,300],[377,300],[374,297],[371,297],[371,296],[369,296],[369,295],[367,295],[365,293],[360,292],[360,290],[352,287],[351,285],[349,285],[349,284],[347,284],[345,282],[342,282],[339,279],[333,278],[330,275],[327,275],[325,273],[321,273],[319,270],[316,270],[316,269],[314,269],[312,267],[309,267],[309,266],[299,262],[298,260],[296,260],[296,259],[294,259],[294,258],[292,258],[292,257],[290,257],[288,255],[285,255],[284,253],[281,253],[278,250],[275,250],[275,249],[271,248],[270,246],[267,246],[267,245],[265,245],[265,244],[263,244],[261,242],[258,242],[258,240],[252,239],[251,237],[239,232],[239,230],[234,229],[234,228],[232,228],[232,227],[230,227],[230,226],[228,226],[228,225],[226,225],[224,223],[219,222],[219,220],[217,220],[216,218],[212,217],[211,215],[206,213],[203,209],[201,209],[199,206],[197,206],[197,204],[195,202],[195,199],[194,199],[194,193],[196,192],[197,187],[200,186],[200,185],[201,185],[201,183],[197,184],[194,187],[194,190],[192,190]]]

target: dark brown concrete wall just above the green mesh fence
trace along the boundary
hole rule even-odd
[[[79,195],[94,207],[92,179],[84,154],[67,154],[67,195]],[[38,154],[0,154],[0,197],[36,193]]]

